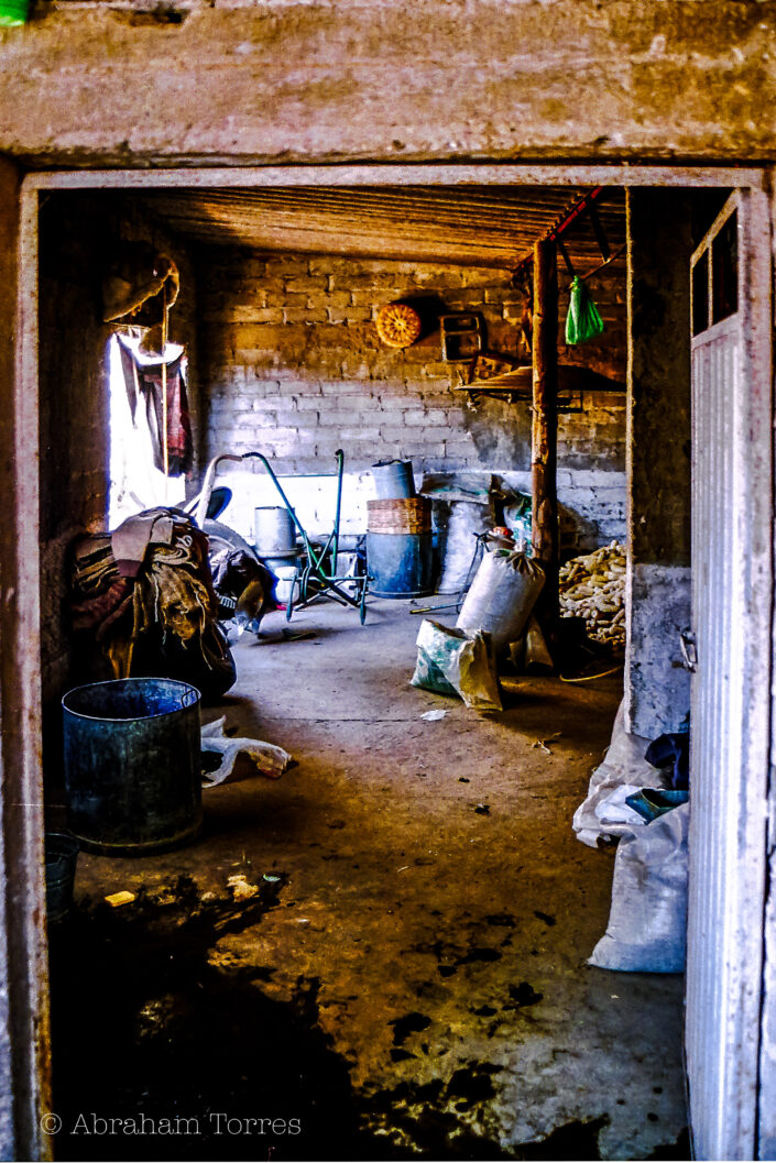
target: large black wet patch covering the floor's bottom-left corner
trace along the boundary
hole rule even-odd
[[[181,878],[164,906],[141,891],[131,909],[81,907],[52,934],[59,1160],[385,1157],[358,1133],[318,979],[280,1003],[262,992],[271,966],[208,961],[280,887],[204,905]]]

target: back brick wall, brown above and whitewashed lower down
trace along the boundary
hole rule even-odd
[[[379,307],[393,299],[420,299],[436,313],[472,309],[485,320],[489,350],[525,362],[524,295],[508,272],[226,250],[204,252],[198,270],[207,455],[258,449],[282,473],[330,472],[342,447],[353,472],[407,457],[417,471],[527,473],[527,401],[483,398],[471,407],[456,391],[467,365],[442,361],[439,327],[405,351],[385,347],[375,327]],[[562,321],[565,281],[561,277]],[[585,347],[562,347],[561,359],[622,381],[622,264],[612,264],[590,286],[606,333]],[[582,413],[561,415],[558,463],[571,509],[578,478],[579,543],[619,535],[624,395],[586,395]],[[606,494],[604,531],[599,490]]]

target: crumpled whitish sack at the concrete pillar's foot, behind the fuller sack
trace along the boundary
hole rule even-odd
[[[649,740],[625,730],[625,705],[620,704],[606,757],[590,777],[586,799],[574,813],[577,840],[597,848],[600,840],[617,840],[643,828],[645,821],[625,804],[642,787],[665,787],[667,778],[645,758]]]

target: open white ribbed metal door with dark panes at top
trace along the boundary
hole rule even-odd
[[[686,1062],[697,1158],[757,1157],[771,661],[770,230],[736,192],[697,249]]]

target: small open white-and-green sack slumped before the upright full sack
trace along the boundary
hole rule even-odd
[[[418,632],[418,661],[410,679],[437,694],[460,694],[475,711],[503,711],[487,635],[460,630],[425,618]]]

